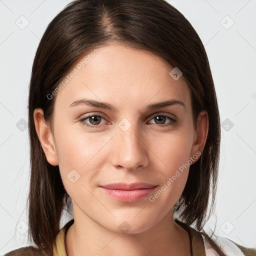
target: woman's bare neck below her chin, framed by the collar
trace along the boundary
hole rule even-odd
[[[73,213],[74,223],[65,236],[68,256],[191,255],[189,235],[174,222],[172,209],[159,222],[137,233],[109,230],[81,212],[74,203]]]

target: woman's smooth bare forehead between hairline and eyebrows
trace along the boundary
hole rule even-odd
[[[173,98],[190,105],[189,88],[182,76],[170,76],[172,68],[152,52],[117,43],[101,46],[76,61],[56,104],[86,97],[120,105]]]

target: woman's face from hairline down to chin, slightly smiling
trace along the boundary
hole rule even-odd
[[[97,50],[87,53],[86,65],[86,56],[77,61],[72,78],[54,95],[53,146],[44,152],[59,165],[74,217],[116,232],[126,221],[129,232],[141,232],[172,210],[206,134],[199,137],[193,127],[183,77],[174,80],[161,58],[114,43]],[[167,100],[172,104],[149,107]],[[154,187],[134,196],[101,187],[116,182]]]

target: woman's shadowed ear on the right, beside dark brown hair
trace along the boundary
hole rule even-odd
[[[198,151],[200,153],[203,151],[207,134],[208,134],[208,125],[209,125],[208,113],[206,110],[202,110],[198,114],[197,120],[196,120],[197,130],[194,131],[193,145],[191,148],[192,155],[196,154],[196,152]]]

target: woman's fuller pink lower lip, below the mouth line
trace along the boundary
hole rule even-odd
[[[108,189],[102,186],[100,186],[100,188],[102,188],[107,195],[116,199],[117,201],[135,202],[151,193],[156,188],[156,186],[150,188],[140,188],[135,190]]]

